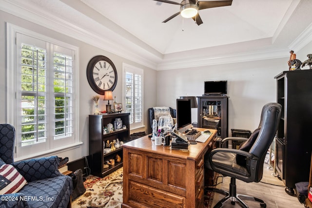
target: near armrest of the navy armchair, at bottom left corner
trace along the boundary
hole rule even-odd
[[[1,208],[29,208],[23,193],[8,193],[0,195]],[[26,199],[26,200],[25,200]]]

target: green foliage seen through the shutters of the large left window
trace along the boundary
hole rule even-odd
[[[55,135],[65,132],[66,109],[65,94],[70,93],[71,74],[66,68],[68,64],[65,56],[54,54],[54,115]],[[37,58],[38,57],[38,58]],[[68,59],[71,62],[71,59]],[[21,50],[21,91],[22,91],[22,141],[46,137],[46,60],[45,51],[28,45],[22,45]],[[29,95],[33,94],[33,95]],[[44,96],[41,96],[44,94]],[[63,95],[62,95],[63,94]],[[37,97],[37,95],[39,95]],[[67,104],[67,105],[65,105]],[[24,107],[23,107],[24,106]],[[38,135],[37,135],[38,131]]]

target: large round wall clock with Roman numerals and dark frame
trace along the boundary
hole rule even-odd
[[[91,58],[87,66],[87,78],[91,88],[98,94],[104,95],[107,90],[113,91],[117,84],[117,70],[108,57],[96,56]]]

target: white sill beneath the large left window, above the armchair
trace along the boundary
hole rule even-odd
[[[56,155],[59,152],[76,149],[79,146],[81,146],[82,144],[83,144],[83,142],[77,142],[77,143],[74,143],[74,144],[66,145],[64,147],[59,147],[59,148],[55,148],[55,149],[47,150],[47,151],[41,151],[41,152],[38,152],[38,153],[35,153],[35,154],[31,154],[31,155],[27,155],[27,156],[24,156],[24,157],[17,157],[17,158],[14,158],[14,162],[21,161],[21,160],[32,159],[32,158],[36,158],[36,157],[45,157],[45,156],[50,156],[50,155]]]

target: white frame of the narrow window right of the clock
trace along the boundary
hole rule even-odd
[[[144,128],[144,76],[143,76],[143,69],[140,69],[138,67],[126,64],[126,63],[122,63],[122,77],[123,77],[123,81],[122,81],[122,103],[124,105],[124,109],[126,108],[126,95],[125,95],[125,91],[126,91],[126,72],[130,72],[132,74],[135,75],[140,75],[141,76],[141,121],[140,122],[133,122],[130,123],[130,130],[134,130],[134,129],[139,129],[139,128]],[[134,103],[134,101],[133,101]],[[130,113],[130,116],[134,119],[134,115],[132,115]],[[130,119],[131,120],[131,119]]]

